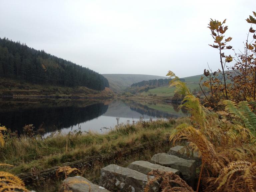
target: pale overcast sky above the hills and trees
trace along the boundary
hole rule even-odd
[[[238,50],[252,11],[256,0],[0,0],[0,37],[101,74],[172,70],[186,77],[202,74],[207,62],[220,68],[217,49],[208,45],[210,18],[227,19],[225,37]]]

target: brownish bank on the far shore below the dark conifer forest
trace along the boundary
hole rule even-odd
[[[0,96],[12,97],[70,97],[70,98],[111,98],[114,92],[105,88],[103,91],[87,87],[64,87],[52,85],[31,84],[8,78],[0,78]]]

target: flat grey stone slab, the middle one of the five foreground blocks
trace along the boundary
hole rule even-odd
[[[170,167],[165,167],[159,164],[150,163],[148,161],[134,161],[130,165],[128,165],[128,168],[133,169],[135,171],[148,174],[148,172],[152,170],[159,170],[159,171],[165,171],[165,172],[173,172],[177,175],[180,174],[180,171],[177,169],[173,169]]]

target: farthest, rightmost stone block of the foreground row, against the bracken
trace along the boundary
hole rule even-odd
[[[175,147],[170,148],[168,151],[169,155],[175,155],[178,157],[181,157],[183,159],[187,160],[195,160],[197,162],[201,161],[201,158],[199,157],[198,153],[193,153],[192,151],[187,151],[186,147],[176,145]]]

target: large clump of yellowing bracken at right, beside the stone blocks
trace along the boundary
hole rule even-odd
[[[171,86],[186,93],[182,107],[191,113],[190,123],[178,125],[170,135],[175,143],[182,140],[193,143],[199,150],[202,168],[203,191],[256,191],[256,116],[248,103],[237,105],[224,100],[220,105],[225,111],[211,111],[199,99],[186,91],[184,82],[169,72],[174,79]],[[176,82],[175,82],[176,81]]]

